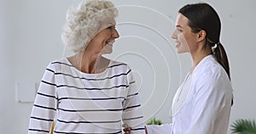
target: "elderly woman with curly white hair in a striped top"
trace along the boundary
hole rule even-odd
[[[67,13],[63,42],[73,56],[51,62],[32,107],[28,133],[144,133],[136,82],[127,64],[102,57],[119,37],[113,3],[90,0]]]

